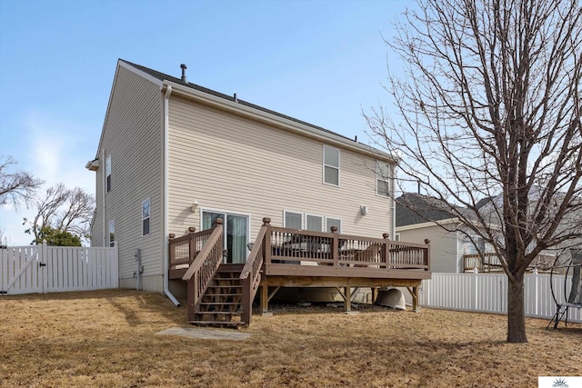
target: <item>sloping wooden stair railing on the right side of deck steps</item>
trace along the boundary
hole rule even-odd
[[[248,255],[246,264],[240,273],[240,280],[243,284],[243,313],[241,320],[248,326],[251,324],[253,315],[253,300],[255,299],[256,290],[261,283],[261,267],[265,262],[265,254],[270,247],[268,246],[271,238],[271,219],[263,218],[263,226],[256,235],[255,244]],[[266,239],[268,237],[268,240]]]

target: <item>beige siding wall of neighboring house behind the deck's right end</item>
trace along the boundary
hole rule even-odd
[[[430,271],[434,273],[458,272],[457,232],[447,232],[437,225],[402,230],[396,228],[400,241],[425,244],[430,240]]]

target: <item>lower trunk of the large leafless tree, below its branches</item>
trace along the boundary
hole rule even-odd
[[[515,282],[510,277],[507,280],[507,342],[527,343],[524,277],[517,276]]]

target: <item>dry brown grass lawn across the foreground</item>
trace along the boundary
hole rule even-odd
[[[186,326],[158,293],[111,290],[0,297],[0,386],[537,386],[582,374],[582,324],[527,319],[529,343],[505,343],[506,317],[361,306],[278,306],[244,341],[155,335]]]

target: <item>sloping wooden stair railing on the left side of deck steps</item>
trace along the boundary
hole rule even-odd
[[[218,267],[223,262],[223,220],[217,218],[213,226],[212,234],[208,237],[202,250],[196,254],[196,258],[188,267],[182,280],[187,284],[187,316],[193,319],[198,311],[208,284],[215,276]]]

